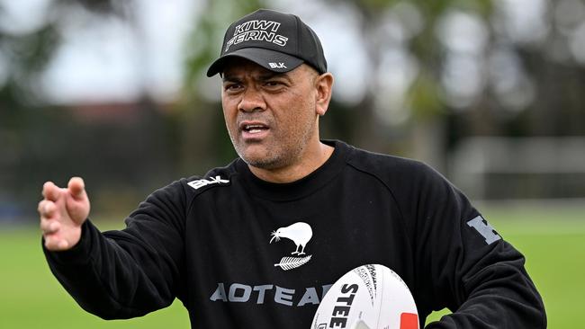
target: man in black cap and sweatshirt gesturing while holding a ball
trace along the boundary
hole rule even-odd
[[[330,285],[381,263],[409,286],[421,327],[544,328],[524,257],[425,164],[319,137],[333,77],[298,17],[229,26],[220,74],[238,159],[155,191],[100,233],[80,178],[43,187],[51,271],[81,307],[142,316],[179,298],[193,328],[309,328]]]

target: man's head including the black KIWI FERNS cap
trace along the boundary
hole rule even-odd
[[[273,173],[320,165],[319,117],[333,76],[314,32],[294,15],[259,10],[229,26],[221,54],[208,76],[222,76],[223,113],[238,155],[253,170]]]

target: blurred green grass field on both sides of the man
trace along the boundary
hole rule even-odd
[[[579,327],[585,306],[585,204],[479,208],[527,256],[527,270],[545,299],[548,327]],[[36,227],[0,227],[0,261],[0,328],[189,328],[177,301],[132,320],[103,321],[85,313],[49,272]]]

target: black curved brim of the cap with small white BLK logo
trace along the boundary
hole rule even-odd
[[[300,66],[303,62],[300,58],[295,58],[294,56],[275,50],[243,48],[216,59],[207,70],[207,76],[215,76],[222,72],[229,58],[245,58],[267,70],[280,73],[289,72]]]

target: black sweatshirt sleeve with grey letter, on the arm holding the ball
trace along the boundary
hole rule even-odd
[[[453,313],[427,329],[545,328],[543,301],[525,258],[472,207],[464,194],[424,164],[411,186],[416,218],[415,296],[426,316]],[[411,182],[412,183],[412,182]]]

